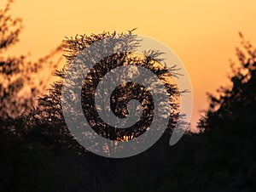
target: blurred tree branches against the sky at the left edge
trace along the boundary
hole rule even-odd
[[[47,80],[51,76],[39,79],[41,71],[47,67],[54,71],[56,62],[50,59],[60,52],[61,47],[38,59],[29,61],[26,55],[5,57],[8,48],[19,42],[22,29],[21,19],[9,14],[12,1],[9,0],[5,7],[0,9],[0,117],[16,117],[23,112],[28,112],[35,105],[39,93],[44,93],[48,86]],[[42,76],[41,76],[42,77]]]

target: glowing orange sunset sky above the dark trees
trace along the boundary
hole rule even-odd
[[[235,59],[240,42],[238,31],[256,41],[255,0],[15,0],[11,13],[21,17],[24,25],[11,54],[30,52],[37,58],[65,36],[135,27],[137,34],[164,42],[189,72],[195,97],[193,125],[199,110],[207,108],[206,92],[227,84],[229,59]]]

